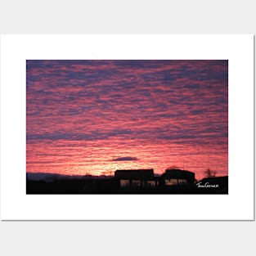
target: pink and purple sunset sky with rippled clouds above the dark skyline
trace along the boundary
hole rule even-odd
[[[228,174],[228,61],[26,61],[26,172]]]

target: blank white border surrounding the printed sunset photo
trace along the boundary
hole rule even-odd
[[[229,194],[26,195],[27,59],[229,60]],[[1,218],[253,220],[254,35],[2,35]]]

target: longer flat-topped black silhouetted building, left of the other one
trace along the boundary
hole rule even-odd
[[[121,188],[141,188],[157,186],[154,169],[116,170],[115,178]]]

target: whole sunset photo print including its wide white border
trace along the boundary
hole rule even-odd
[[[254,219],[253,35],[3,35],[1,102],[2,219]]]

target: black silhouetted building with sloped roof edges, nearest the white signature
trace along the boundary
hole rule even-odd
[[[162,178],[165,186],[192,185],[195,182],[195,173],[181,169],[166,169]]]

